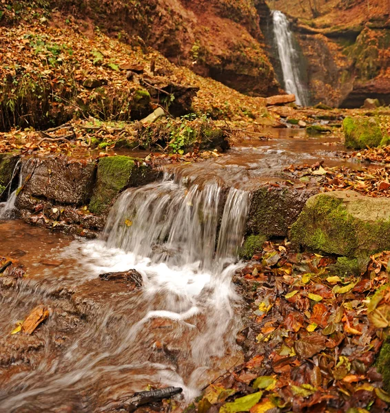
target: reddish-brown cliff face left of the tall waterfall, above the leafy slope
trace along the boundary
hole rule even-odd
[[[61,14],[97,25],[122,41],[154,47],[191,68],[253,96],[278,92],[264,50],[264,0],[54,0]]]

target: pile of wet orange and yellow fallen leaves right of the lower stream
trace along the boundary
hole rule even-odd
[[[234,278],[249,305],[246,362],[209,385],[198,412],[387,412],[373,363],[390,321],[389,258],[340,276],[333,257],[265,244]]]

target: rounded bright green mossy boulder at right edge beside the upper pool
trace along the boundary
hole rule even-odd
[[[380,120],[375,117],[348,116],[342,122],[345,135],[345,146],[353,149],[378,147],[389,145],[390,137],[384,128],[380,127]]]

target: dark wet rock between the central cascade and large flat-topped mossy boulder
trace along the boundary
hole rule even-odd
[[[260,187],[252,195],[246,233],[285,237],[306,201],[318,189]]]

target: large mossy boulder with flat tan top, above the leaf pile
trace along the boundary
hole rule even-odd
[[[309,198],[291,226],[291,240],[314,251],[362,257],[390,249],[390,199],[355,191]]]

